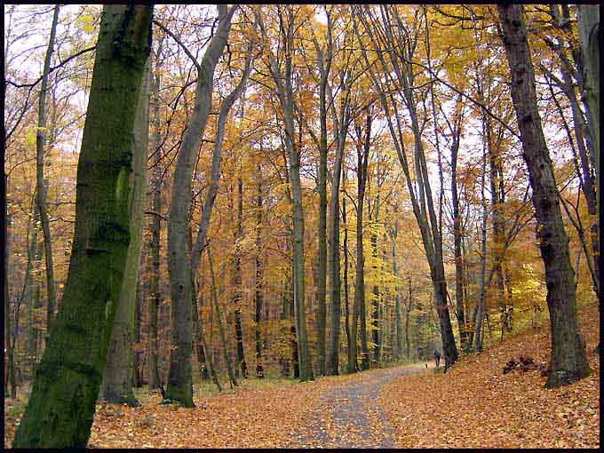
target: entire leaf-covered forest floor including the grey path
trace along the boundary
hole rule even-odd
[[[138,408],[99,402],[89,447],[598,448],[598,313],[579,310],[593,372],[573,385],[545,389],[539,370],[502,372],[520,355],[547,361],[545,324],[462,357],[446,374],[419,363],[303,383],[250,378],[220,394],[202,384],[194,409],[138,390]],[[26,395],[4,401],[6,446]]]

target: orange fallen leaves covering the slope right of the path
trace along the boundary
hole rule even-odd
[[[547,362],[549,326],[466,356],[447,374],[395,379],[378,401],[400,448],[598,448],[600,363],[596,306],[579,310],[591,376],[544,388],[539,370],[502,373],[511,357]]]

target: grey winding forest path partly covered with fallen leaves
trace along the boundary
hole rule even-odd
[[[433,364],[429,365],[433,369]],[[291,436],[288,448],[393,449],[393,429],[377,404],[382,385],[425,371],[425,363],[370,370],[353,382],[322,393],[303,432]]]

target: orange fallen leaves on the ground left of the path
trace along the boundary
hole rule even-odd
[[[162,406],[161,397],[153,395],[139,408],[119,407],[121,417],[115,417],[115,406],[99,404],[89,446],[277,448],[316,396],[313,383],[292,383],[195,399],[193,409]]]

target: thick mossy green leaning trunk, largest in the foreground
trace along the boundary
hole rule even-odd
[[[103,8],[68,280],[15,448],[83,448],[90,436],[130,242],[131,135],[152,11],[145,5]]]

